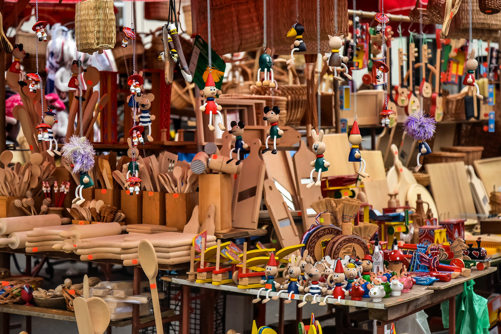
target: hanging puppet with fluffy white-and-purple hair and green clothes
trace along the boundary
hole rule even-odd
[[[85,202],[82,190],[94,185],[89,171],[94,168],[96,152],[87,138],[75,135],[70,137],[69,143],[63,145],[62,151],[63,158],[73,166],[73,173],[80,174],[80,184],[75,189],[75,199],[72,203],[82,204]]]

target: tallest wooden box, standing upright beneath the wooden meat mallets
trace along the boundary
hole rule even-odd
[[[214,226],[218,233],[231,229],[231,177],[230,174],[200,174],[198,176],[200,223],[205,220],[210,204],[215,204]]]

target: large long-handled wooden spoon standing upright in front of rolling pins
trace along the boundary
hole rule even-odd
[[[163,334],[162,314],[160,313],[160,303],[158,301],[158,291],[156,287],[156,275],[158,273],[158,260],[155,248],[149,240],[141,240],[137,248],[139,263],[145,275],[150,281],[151,300],[153,302],[153,314],[155,315],[155,325],[158,334]]]

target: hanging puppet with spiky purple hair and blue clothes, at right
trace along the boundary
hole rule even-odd
[[[404,133],[418,142],[417,166],[414,168],[416,172],[421,168],[419,157],[431,153],[431,148],[426,141],[433,137],[435,124],[435,119],[425,116],[422,111],[409,115],[404,121]]]

